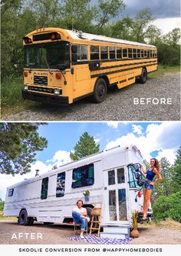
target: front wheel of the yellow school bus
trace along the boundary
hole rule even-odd
[[[94,86],[93,100],[95,103],[102,103],[107,96],[107,83],[103,78],[97,79]]]

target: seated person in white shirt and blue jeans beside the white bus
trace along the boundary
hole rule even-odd
[[[74,207],[72,210],[72,217],[74,219],[74,223],[81,224],[81,238],[84,239],[84,231],[86,229],[86,224],[90,221],[90,218],[87,217],[86,208],[82,207],[83,200],[77,200],[77,207]]]

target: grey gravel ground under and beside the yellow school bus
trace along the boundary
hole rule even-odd
[[[134,104],[134,98],[139,99],[139,104]],[[140,104],[140,98],[145,104]],[[151,103],[146,104],[145,98],[151,98]],[[163,98],[171,104],[164,104]],[[120,90],[111,88],[104,103],[92,103],[91,99],[64,107],[40,103],[35,109],[26,109],[4,120],[180,120],[180,73],[167,72],[145,84],[136,83]]]

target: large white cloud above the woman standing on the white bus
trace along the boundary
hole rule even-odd
[[[146,133],[137,136],[137,133],[127,133],[117,140],[107,143],[107,149],[118,145],[136,145],[143,155],[143,158],[150,160],[153,151],[159,151],[158,156],[168,158],[170,163],[174,162],[176,150],[181,144],[181,123],[163,122],[150,123]]]

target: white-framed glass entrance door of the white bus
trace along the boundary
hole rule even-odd
[[[118,167],[104,172],[105,222],[118,224],[128,220],[127,188],[125,168]]]

